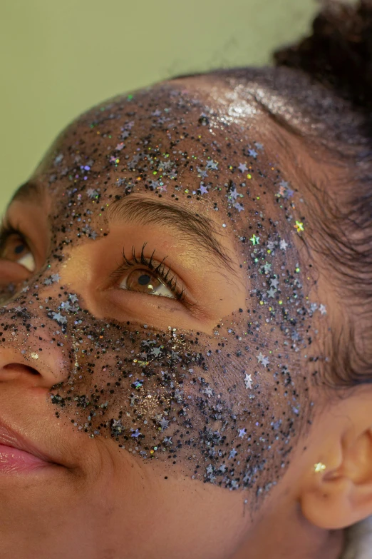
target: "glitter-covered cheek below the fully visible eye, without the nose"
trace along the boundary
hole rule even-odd
[[[259,485],[267,464],[272,480],[282,473],[290,398],[273,391],[271,371],[249,365],[242,339],[81,319],[71,378],[51,391],[58,416],[138,460],[225,488]]]

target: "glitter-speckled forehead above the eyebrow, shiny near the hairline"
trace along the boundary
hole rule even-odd
[[[231,233],[272,211],[281,177],[269,161],[270,125],[239,86],[211,76],[165,81],[74,121],[36,169],[28,193],[46,192],[51,212],[75,221],[87,211],[89,221],[105,220],[113,203],[138,193],[209,216]]]

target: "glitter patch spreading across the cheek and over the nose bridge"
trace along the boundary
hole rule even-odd
[[[306,381],[295,385],[289,354],[273,351],[279,328],[269,311],[254,321],[247,311],[230,317],[212,336],[151,331],[94,318],[73,293],[56,297],[55,281],[43,276],[1,313],[4,346],[26,356],[53,347],[57,381],[48,406],[57,420],[140,463],[223,488],[277,482],[294,447]]]

